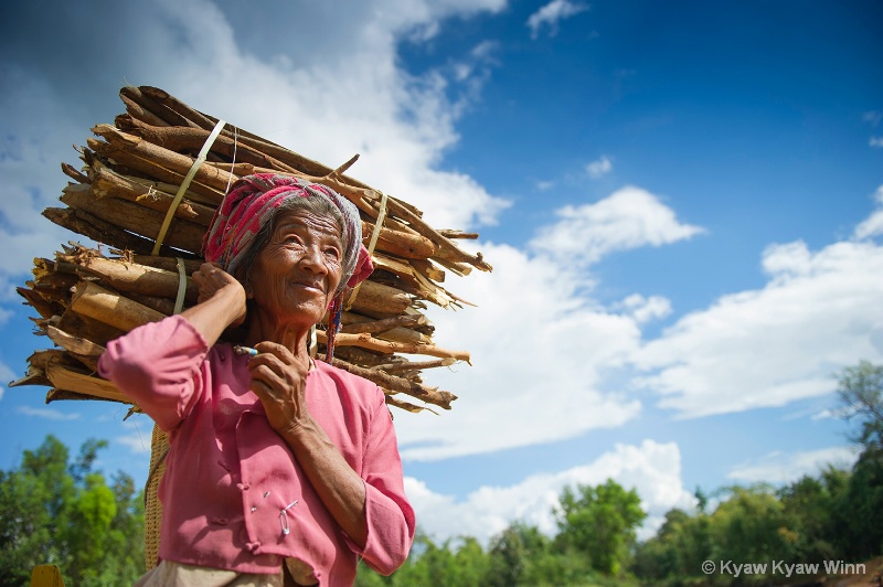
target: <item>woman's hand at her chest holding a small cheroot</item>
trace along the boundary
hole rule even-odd
[[[310,420],[305,395],[310,357],[306,350],[294,354],[275,342],[260,342],[255,350],[248,361],[251,389],[264,404],[274,430],[294,431]]]

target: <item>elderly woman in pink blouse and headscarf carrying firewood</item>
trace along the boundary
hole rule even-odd
[[[161,563],[138,585],[344,585],[360,558],[392,573],[415,521],[383,392],[308,352],[310,329],[371,273],[355,206],[251,175],[204,249],[198,303],[99,363],[169,435]]]

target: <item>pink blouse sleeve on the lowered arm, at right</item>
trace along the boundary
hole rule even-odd
[[[368,540],[364,548],[359,548],[351,540],[348,543],[368,566],[382,575],[390,575],[407,558],[416,521],[414,509],[405,495],[402,459],[390,409],[383,393],[379,395],[362,470]]]

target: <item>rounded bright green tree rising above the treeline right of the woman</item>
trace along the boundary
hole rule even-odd
[[[636,531],[647,516],[638,493],[608,479],[596,487],[564,488],[560,504],[558,544],[583,554],[593,569],[619,575],[636,545]]]

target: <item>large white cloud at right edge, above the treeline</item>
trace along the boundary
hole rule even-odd
[[[763,289],[684,316],[635,356],[639,387],[699,417],[783,406],[833,391],[834,372],[883,359],[883,247],[801,242],[769,246]]]

